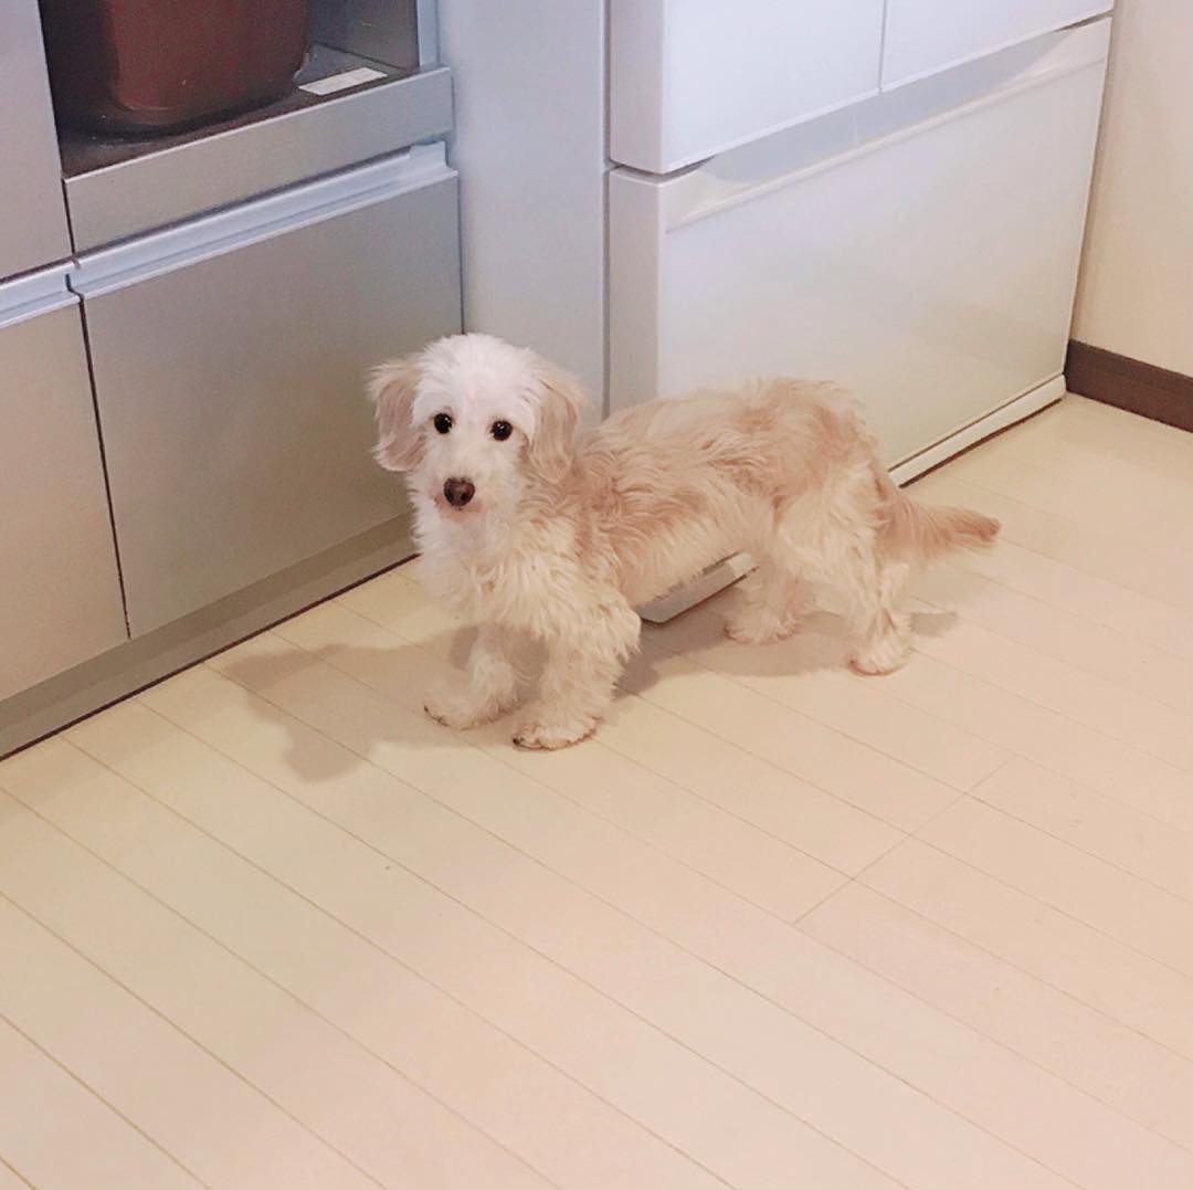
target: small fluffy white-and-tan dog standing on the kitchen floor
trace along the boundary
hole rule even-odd
[[[521,747],[589,735],[637,646],[633,609],[722,557],[760,562],[731,636],[793,633],[810,587],[827,584],[846,597],[851,664],[886,673],[909,652],[909,566],[999,530],[902,493],[854,406],[823,386],[654,400],[580,434],[571,377],[464,334],[378,368],[371,394],[376,457],[407,475],[421,578],[480,622],[466,679],[427,711],[466,728],[512,709],[514,641],[530,635],[546,660]]]

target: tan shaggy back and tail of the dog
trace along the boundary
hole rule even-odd
[[[575,485],[639,603],[738,549],[767,557],[793,518],[869,525],[907,562],[984,545],[999,530],[981,513],[913,500],[851,399],[786,378],[610,418],[581,443]]]

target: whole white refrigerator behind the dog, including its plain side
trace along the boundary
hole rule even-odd
[[[441,0],[465,326],[839,382],[909,479],[1063,391],[1111,7]]]

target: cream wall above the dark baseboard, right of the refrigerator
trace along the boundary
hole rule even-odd
[[[1193,376],[1193,0],[1118,0],[1073,338]]]

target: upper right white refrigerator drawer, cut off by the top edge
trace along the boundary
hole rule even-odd
[[[994,54],[1113,6],[1113,0],[888,0],[883,86]]]

